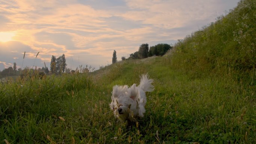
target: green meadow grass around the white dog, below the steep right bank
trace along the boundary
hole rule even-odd
[[[1,85],[1,140],[31,144],[255,141],[255,87],[244,88],[225,77],[194,78],[171,68],[168,59],[125,61],[93,75]],[[110,111],[112,86],[139,83],[139,74],[147,72],[155,91],[147,94],[146,114],[138,127],[126,127]]]

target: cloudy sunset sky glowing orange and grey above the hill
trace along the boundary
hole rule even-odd
[[[67,68],[97,70],[112,64],[114,50],[121,61],[143,43],[174,45],[238,1],[0,0],[0,71],[14,62],[50,68],[52,55],[63,54]]]

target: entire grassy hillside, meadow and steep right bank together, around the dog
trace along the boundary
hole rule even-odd
[[[1,143],[255,143],[255,6],[242,1],[162,57],[1,83]],[[127,127],[109,108],[112,87],[145,73],[155,91]]]

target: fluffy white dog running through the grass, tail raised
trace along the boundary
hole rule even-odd
[[[147,74],[143,74],[140,77],[140,85],[133,84],[113,86],[112,102],[110,103],[110,109],[114,111],[115,117],[121,120],[128,120],[135,122],[138,117],[143,117],[145,113],[144,105],[146,104],[146,93],[152,92],[154,86],[151,84],[152,79],[149,79]]]

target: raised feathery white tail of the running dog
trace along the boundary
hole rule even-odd
[[[139,88],[143,89],[144,92],[152,92],[154,91],[154,86],[151,84],[153,79],[149,79],[147,74],[143,74],[140,76],[140,85]]]

